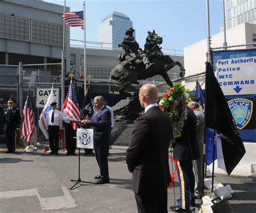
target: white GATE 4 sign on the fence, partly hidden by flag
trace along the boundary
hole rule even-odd
[[[44,108],[44,105],[51,93],[51,88],[37,88],[36,89],[36,108]],[[59,89],[53,88],[54,101],[59,107]]]

